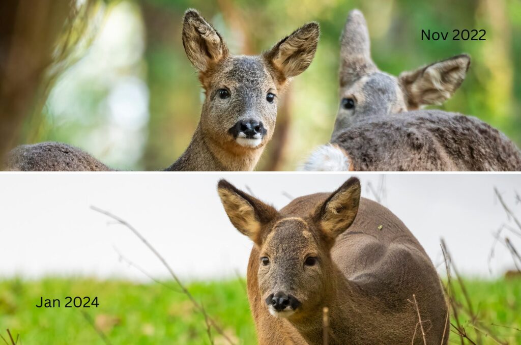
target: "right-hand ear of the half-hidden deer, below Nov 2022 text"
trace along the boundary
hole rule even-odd
[[[427,104],[441,104],[460,87],[470,66],[470,56],[463,54],[402,72],[398,77],[407,107],[416,109]]]

